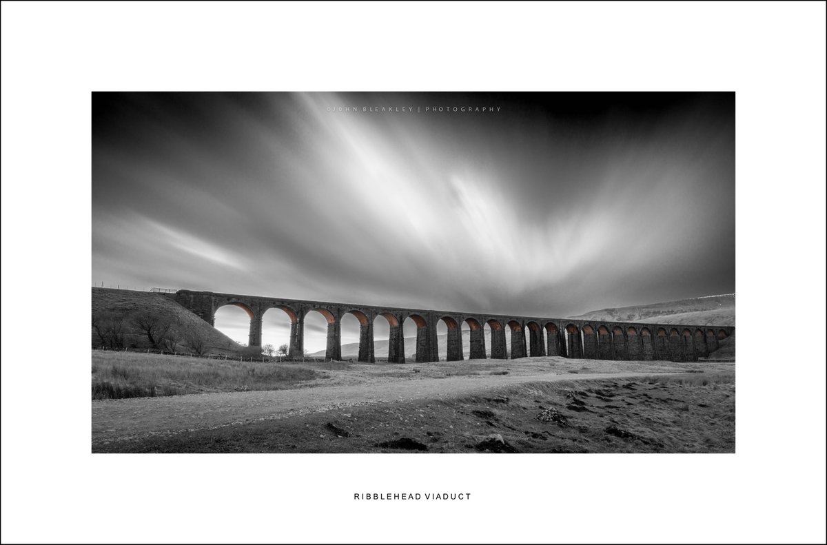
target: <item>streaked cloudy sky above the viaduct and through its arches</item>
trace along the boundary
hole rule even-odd
[[[555,318],[735,292],[734,93],[92,93],[92,107],[93,285]],[[265,344],[287,342],[283,314],[265,315]],[[324,348],[313,314],[309,351]],[[240,342],[247,323],[216,315]]]

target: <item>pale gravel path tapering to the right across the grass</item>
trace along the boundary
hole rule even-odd
[[[675,371],[672,371],[674,373]],[[228,392],[92,402],[92,442],[128,441],[152,435],[222,428],[260,420],[289,418],[354,405],[456,397],[524,382],[592,380],[663,372],[595,374],[466,375],[444,378],[330,385],[297,390]]]

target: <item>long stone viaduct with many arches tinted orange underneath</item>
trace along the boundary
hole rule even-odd
[[[485,324],[491,330],[490,358],[505,359],[506,332],[510,332],[511,357],[566,356],[600,360],[669,360],[696,361],[718,349],[719,339],[729,337],[734,327],[691,326],[659,323],[605,322],[570,320],[503,314],[457,313],[418,308],[377,307],[368,305],[278,299],[253,295],[216,294],[208,291],[179,289],[169,294],[210,325],[215,325],[218,308],[232,304],[250,317],[251,347],[261,347],[261,318],[270,308],[280,308],[290,318],[289,355],[304,354],[304,317],[318,312],[327,319],[326,359],[342,359],[342,317],[350,313],[360,323],[359,361],[375,361],[373,323],[378,316],[390,325],[388,361],[405,361],[402,324],[407,318],[417,326],[416,361],[439,361],[437,322],[447,325],[447,361],[459,361],[462,353],[463,322],[470,327],[471,359],[486,357]],[[528,327],[528,342],[525,328]]]

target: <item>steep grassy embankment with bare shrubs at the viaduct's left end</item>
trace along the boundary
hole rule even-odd
[[[177,341],[178,351],[188,351],[190,340],[198,337],[204,349],[213,354],[235,354],[243,350],[237,342],[227,337],[188,309],[165,295],[128,289],[92,288],[92,320],[112,323],[122,320],[122,337],[125,347],[149,348],[151,343],[145,333],[136,327],[134,320],[141,314],[160,318],[170,323],[168,335]],[[99,347],[102,340],[92,328],[92,346]],[[163,346],[160,346],[163,348]],[[167,350],[170,348],[167,347]]]

